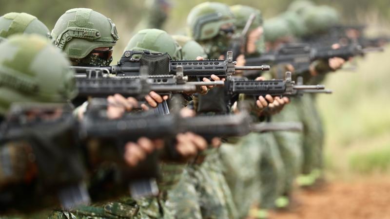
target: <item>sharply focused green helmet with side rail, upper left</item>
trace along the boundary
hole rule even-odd
[[[74,59],[85,58],[99,47],[113,47],[119,39],[111,19],[89,8],[66,11],[51,35],[56,47]]]

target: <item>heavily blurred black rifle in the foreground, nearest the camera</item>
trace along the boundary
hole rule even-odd
[[[149,155],[147,160],[135,168],[128,167],[121,159],[124,143],[137,141],[141,136],[168,140],[174,139],[177,133],[192,131],[211,140],[217,136],[243,136],[251,131],[275,130],[270,126],[271,124],[267,124],[268,126],[252,124],[246,113],[189,118],[181,118],[177,115],[158,116],[153,113],[127,114],[122,118],[110,120],[101,113],[102,103],[107,102],[105,99],[93,99],[81,121],[76,121],[71,113],[65,111],[62,111],[58,117],[47,118],[56,114],[53,112],[57,112],[58,106],[50,106],[49,110],[46,110],[47,105],[13,107],[13,113],[10,115],[13,120],[7,120],[2,124],[1,142],[23,140],[30,143],[38,164],[38,179],[33,187],[24,185],[23,188],[27,191],[10,189],[10,187],[1,189],[0,196],[7,198],[0,199],[0,212],[37,210],[58,205],[71,208],[80,203],[88,203],[90,199],[82,182],[87,176],[86,170],[91,172],[96,168],[97,162],[105,164],[113,162],[120,167],[121,172],[115,177],[115,185],[120,186],[110,187],[110,190],[105,192],[111,196],[110,198],[123,195],[128,191],[128,183],[131,184],[132,196],[156,195],[158,193],[156,184],[153,185],[153,181],[148,179],[158,177],[158,154]],[[28,113],[31,111],[44,115],[31,120]],[[279,126],[278,128],[278,130],[292,129],[296,130],[297,127]],[[117,144],[98,146],[84,143],[93,139],[105,143],[112,141]],[[66,141],[62,142],[62,140]],[[174,148],[169,148],[172,149]],[[8,172],[12,174],[12,171]],[[121,182],[117,183],[117,181]],[[105,187],[99,188],[98,193],[105,189],[107,190]],[[94,197],[93,193],[90,194]],[[26,197],[20,200],[22,196]],[[99,201],[94,198],[92,200]]]

